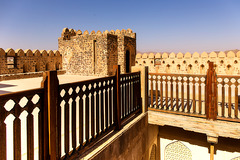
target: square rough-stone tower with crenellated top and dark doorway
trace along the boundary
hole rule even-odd
[[[58,38],[63,57],[63,69],[68,74],[84,76],[113,75],[113,65],[121,65],[121,72],[131,72],[135,65],[136,33],[131,29],[92,31],[64,28]]]

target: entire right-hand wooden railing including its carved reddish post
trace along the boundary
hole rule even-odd
[[[149,110],[240,122],[240,76],[216,75],[213,66],[207,75],[149,73]]]

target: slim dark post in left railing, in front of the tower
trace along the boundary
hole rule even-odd
[[[121,90],[120,90],[120,65],[114,65],[113,70],[115,71],[116,76],[116,83],[115,83],[115,95],[116,101],[115,101],[115,122],[116,122],[116,129],[121,129]]]

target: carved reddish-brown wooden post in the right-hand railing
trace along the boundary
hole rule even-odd
[[[217,75],[213,67],[213,62],[209,62],[206,79],[206,118],[217,119]]]

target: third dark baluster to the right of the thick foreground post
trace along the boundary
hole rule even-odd
[[[79,99],[79,143],[83,147],[83,94],[81,92]]]

